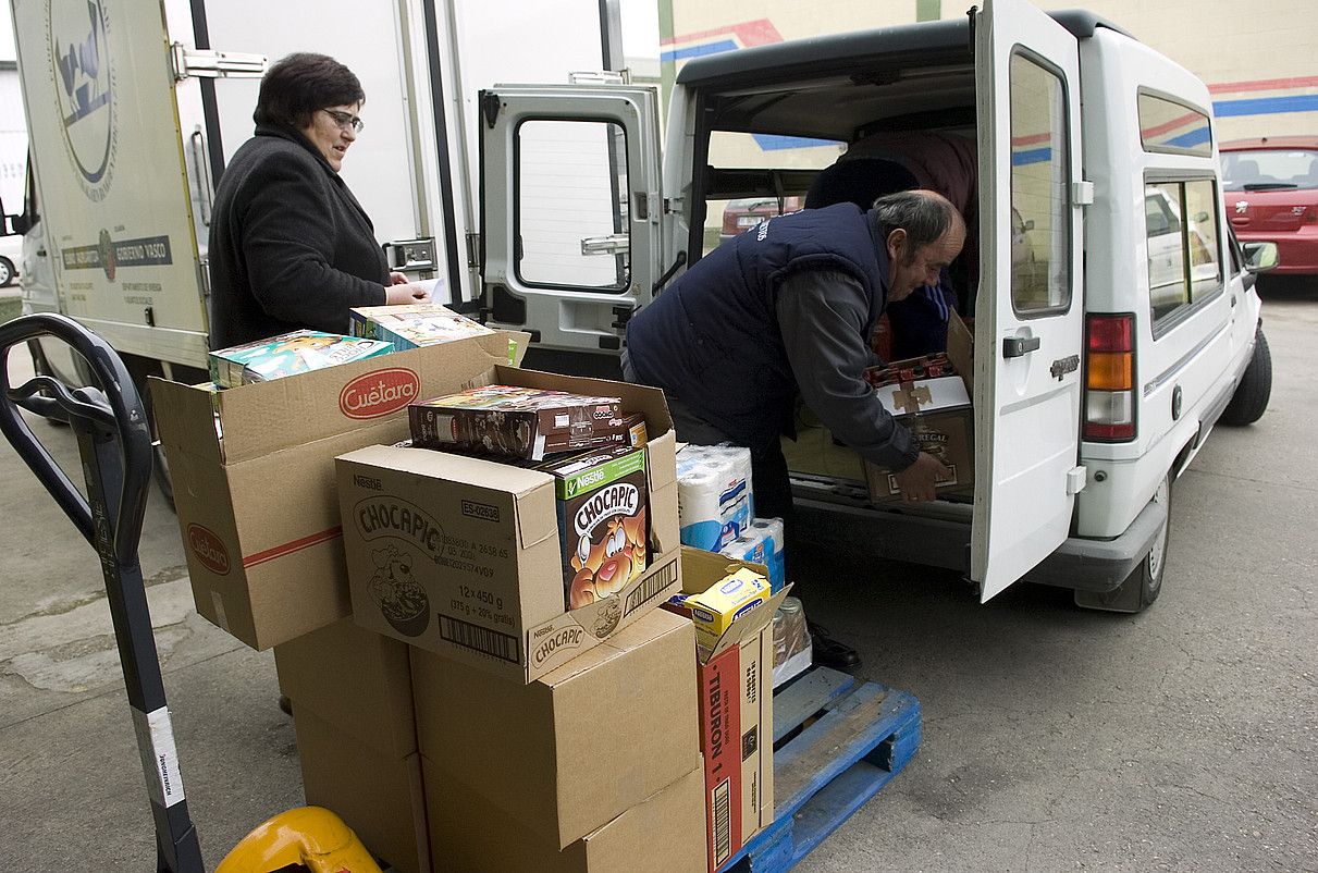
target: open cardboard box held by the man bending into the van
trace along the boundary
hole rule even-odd
[[[956,313],[952,313],[948,320],[948,359],[957,375],[875,389],[884,407],[898,422],[912,430],[920,451],[929,452],[952,471],[949,479],[937,483],[940,495],[974,493],[975,414],[971,407],[974,397],[971,346],[970,330]],[[900,369],[902,361],[888,367]],[[919,410],[919,415],[912,410]],[[888,468],[871,462],[863,462],[863,467],[871,501],[883,504],[902,500],[902,489],[898,488],[896,477]]]

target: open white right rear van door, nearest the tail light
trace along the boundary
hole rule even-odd
[[[988,600],[1068,537],[1079,450],[1079,46],[1023,0],[974,18],[979,117],[975,508]]]

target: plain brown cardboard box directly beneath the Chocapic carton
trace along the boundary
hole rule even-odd
[[[424,766],[565,848],[699,766],[695,646],[656,609],[527,686],[413,647]]]

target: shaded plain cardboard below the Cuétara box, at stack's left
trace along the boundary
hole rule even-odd
[[[302,787],[402,873],[430,870],[407,646],[336,621],[274,647]]]

